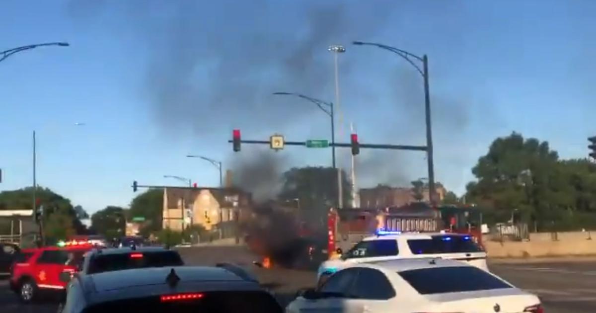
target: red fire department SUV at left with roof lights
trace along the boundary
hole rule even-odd
[[[23,302],[35,300],[42,292],[64,292],[66,283],[60,273],[77,271],[91,249],[91,245],[23,249],[11,266],[10,287]]]

